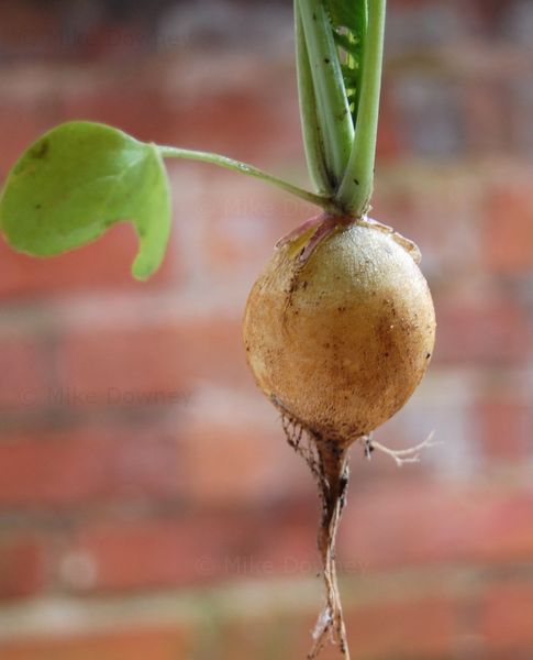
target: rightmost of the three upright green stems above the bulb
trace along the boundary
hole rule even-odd
[[[367,212],[374,188],[386,4],[386,0],[368,2],[368,30],[363,51],[355,136],[336,196],[338,205],[356,218]]]

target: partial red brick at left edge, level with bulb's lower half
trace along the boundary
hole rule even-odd
[[[0,409],[32,409],[47,386],[46,348],[37,340],[0,340]]]

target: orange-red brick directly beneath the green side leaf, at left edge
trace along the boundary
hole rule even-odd
[[[98,241],[78,250],[49,258],[35,258],[14,252],[0,243],[0,298],[127,288],[156,288],[176,278],[179,264],[170,254],[159,271],[141,285],[131,275],[137,251],[137,239],[130,224],[113,227]],[[143,289],[144,290],[144,289]]]

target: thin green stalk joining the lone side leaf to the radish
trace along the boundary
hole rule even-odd
[[[233,172],[240,172],[241,174],[247,174],[248,176],[254,176],[255,178],[259,178],[264,182],[273,184],[274,186],[286,190],[287,193],[290,193],[300,199],[304,199],[306,201],[314,204],[326,211],[337,210],[330,197],[314,195],[313,193],[303,190],[298,186],[293,186],[292,184],[289,184],[277,176],[268,174],[267,172],[263,172],[253,165],[248,165],[247,163],[241,163],[241,161],[234,161],[233,158],[229,158],[227,156],[222,156],[220,154],[193,151],[190,148],[180,148],[178,146],[156,145],[156,148],[159,151],[159,154],[163,158],[185,158],[188,161],[200,161],[202,163],[219,165],[220,167],[225,167],[226,169],[232,169]]]

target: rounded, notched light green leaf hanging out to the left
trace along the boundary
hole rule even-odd
[[[16,162],[0,199],[0,228],[9,244],[51,256],[131,221],[140,246],[133,275],[159,266],[170,231],[170,194],[155,145],[91,122],[62,124]]]

